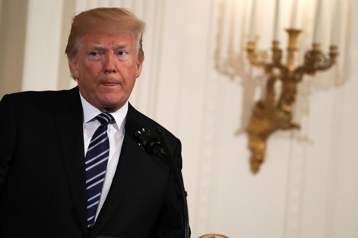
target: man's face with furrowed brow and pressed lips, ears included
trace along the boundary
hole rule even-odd
[[[86,35],[69,62],[81,95],[102,112],[115,112],[125,104],[142,70],[129,33]]]

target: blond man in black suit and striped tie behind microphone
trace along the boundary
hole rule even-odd
[[[66,48],[78,87],[3,97],[0,237],[183,236],[173,171],[124,130],[131,118],[160,127],[128,102],[144,27],[125,9],[82,12]]]

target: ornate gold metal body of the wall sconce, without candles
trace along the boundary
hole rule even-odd
[[[294,52],[300,30],[287,29],[289,42],[287,47],[286,65],[281,62],[282,50],[279,41],[272,42],[272,60],[267,62],[267,52],[257,51],[255,43],[247,43],[248,60],[250,64],[262,67],[267,75],[266,96],[257,101],[246,128],[248,133],[248,148],[251,151],[250,168],[257,173],[265,160],[267,138],[276,130],[299,129],[292,122],[292,103],[297,97],[297,84],[304,74],[314,75],[315,72],[329,69],[335,64],[338,55],[337,46],[332,45],[326,56],[320,49],[320,44],[314,43],[313,48],[305,53],[304,63],[294,66]],[[281,92],[275,92],[275,82],[281,81]]]

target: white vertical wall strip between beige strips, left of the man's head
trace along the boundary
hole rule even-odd
[[[22,82],[24,91],[57,89],[62,5],[62,0],[29,1]]]

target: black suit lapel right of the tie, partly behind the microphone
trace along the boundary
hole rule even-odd
[[[129,104],[126,120],[136,116],[135,109]],[[125,132],[121,154],[119,156],[115,175],[110,190],[100,213],[93,225],[89,237],[98,235],[110,221],[117,207],[122,202],[135,177],[141,157],[144,155],[142,148],[136,143],[129,133]]]

